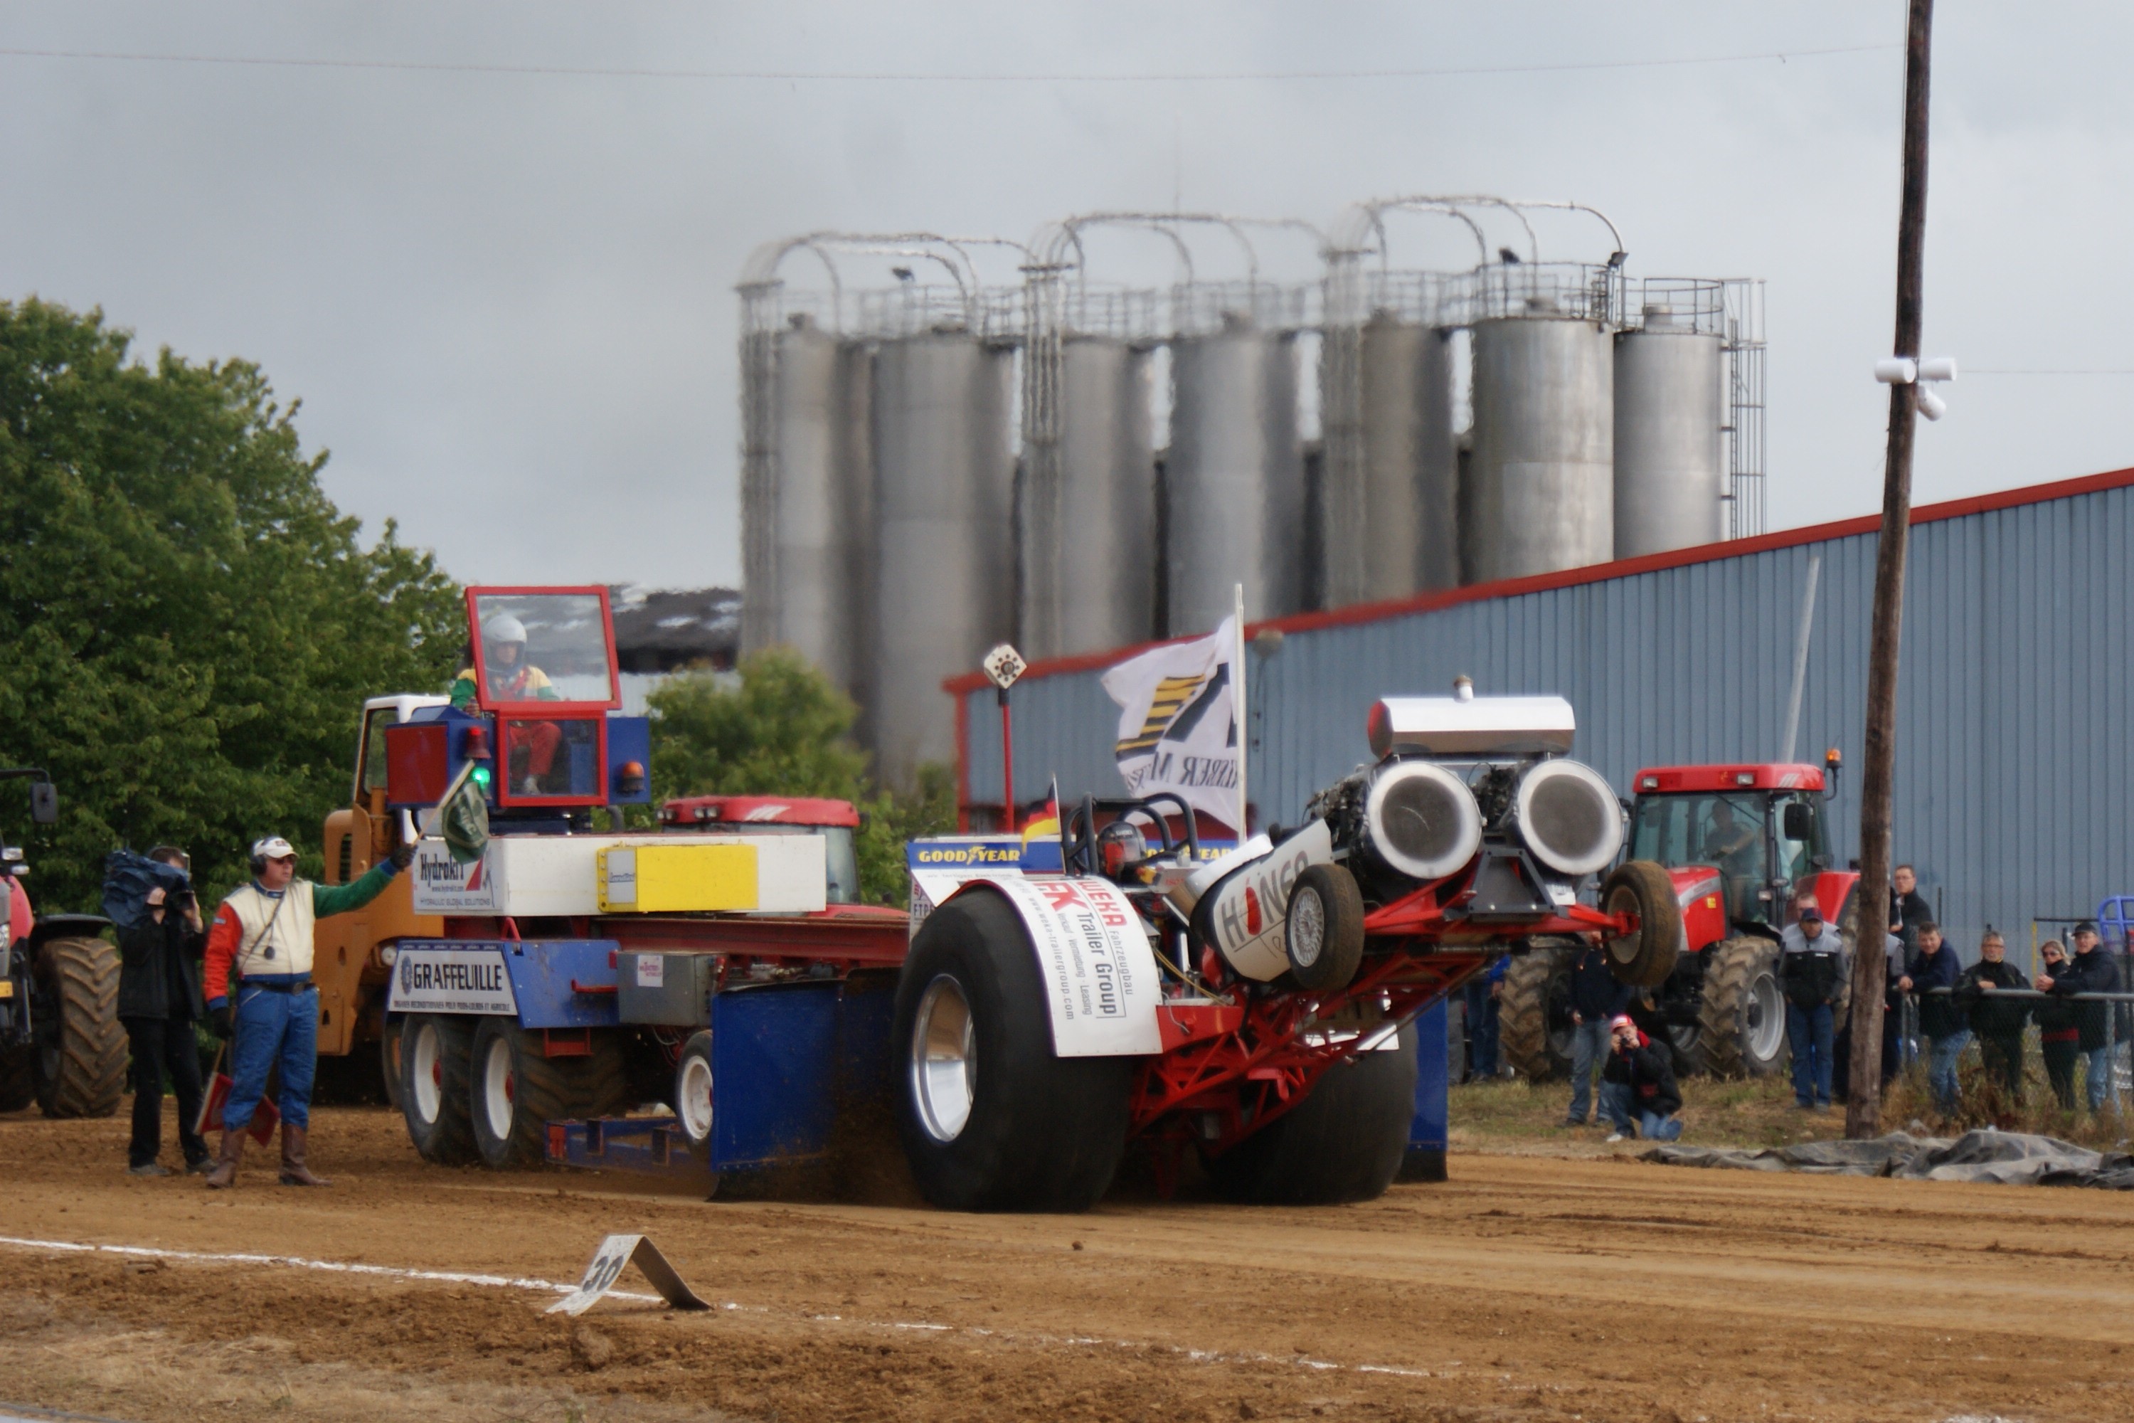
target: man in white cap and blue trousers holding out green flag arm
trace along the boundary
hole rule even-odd
[[[350,885],[314,885],[297,879],[297,847],[282,836],[252,843],[252,883],[233,890],[207,930],[207,1011],[230,1043],[230,1097],[222,1105],[222,1152],[207,1173],[209,1190],[237,1180],[237,1158],[260,1097],[267,1069],[282,1065],[282,1184],[327,1186],[305,1165],[312,1126],[312,1077],[318,1073],[318,990],[312,988],[312,922],[378,898],[408,868],[412,845],[373,864]],[[237,1005],[230,1005],[230,977]]]

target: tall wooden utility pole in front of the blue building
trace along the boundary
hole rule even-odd
[[[1927,60],[1933,0],[1910,0],[1904,41],[1904,203],[1897,211],[1897,343],[1918,361],[1927,247]],[[1852,1065],[1846,1135],[1882,1129],[1882,941],[1889,934],[1889,804],[1897,779],[1897,644],[1904,631],[1904,555],[1912,527],[1912,431],[1918,384],[1889,388],[1889,459],[1882,467],[1882,540],[1874,561],[1874,634],[1867,649],[1867,747],[1861,757],[1861,879],[1852,894]]]

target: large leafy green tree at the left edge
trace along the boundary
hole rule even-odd
[[[186,845],[218,890],[286,834],[316,875],[363,698],[452,674],[457,587],[391,523],[359,542],[297,407],[245,361],[149,365],[100,311],[0,303],[0,757],[60,785],[45,909],[92,907],[117,845]]]

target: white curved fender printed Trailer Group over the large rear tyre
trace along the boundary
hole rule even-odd
[[[965,879],[954,894],[969,894],[973,885],[1005,894],[1031,930],[1052,1009],[1054,1056],[1163,1052],[1157,956],[1142,915],[1118,885],[1093,877],[994,873]]]

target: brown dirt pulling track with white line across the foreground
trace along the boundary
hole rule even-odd
[[[1455,1156],[1342,1210],[702,1203],[423,1167],[320,1112],[333,1190],[124,1176],[0,1118],[0,1233],[574,1280],[644,1231],[713,1314],[0,1248],[0,1402],[122,1419],[2134,1417],[2134,1199]],[[621,1289],[644,1289],[625,1276]],[[2123,1353],[2128,1350],[2128,1353]]]

